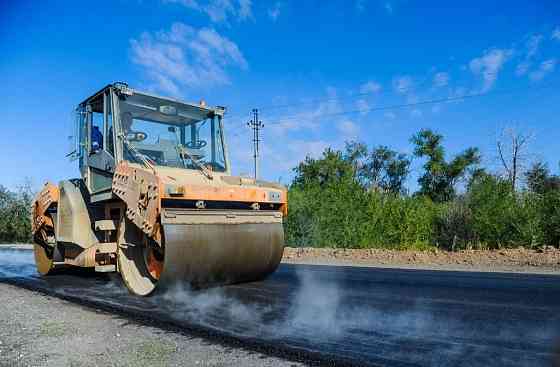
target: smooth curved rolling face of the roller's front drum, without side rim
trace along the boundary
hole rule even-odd
[[[264,279],[284,251],[282,223],[163,224],[165,260],[158,288]]]

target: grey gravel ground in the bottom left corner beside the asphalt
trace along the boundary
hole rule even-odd
[[[0,366],[299,366],[0,283]]]

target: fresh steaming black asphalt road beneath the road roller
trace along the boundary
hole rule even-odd
[[[281,265],[138,298],[115,276],[40,278],[31,251],[0,250],[0,281],[310,363],[552,366],[560,346],[555,275]]]

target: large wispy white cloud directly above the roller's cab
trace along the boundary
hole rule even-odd
[[[228,84],[228,67],[246,69],[238,46],[209,28],[174,23],[169,31],[131,39],[131,59],[155,87],[177,95],[179,87]]]

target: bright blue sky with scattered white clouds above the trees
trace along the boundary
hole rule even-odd
[[[514,126],[533,135],[528,160],[557,171],[560,3],[449,4],[0,2],[0,184],[77,176],[65,158],[72,109],[113,81],[227,106],[236,174],[252,172],[254,107],[269,180],[289,182],[306,155],[350,139],[410,152],[424,127],[445,136],[449,154],[480,147],[498,170],[496,138]],[[485,95],[377,110],[471,94]]]

